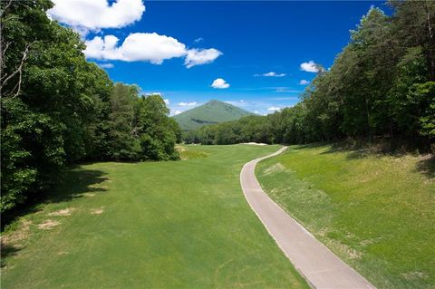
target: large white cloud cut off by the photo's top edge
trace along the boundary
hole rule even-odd
[[[141,0],[53,0],[47,11],[52,19],[68,24],[78,31],[99,31],[102,28],[121,28],[139,21],[145,11]]]

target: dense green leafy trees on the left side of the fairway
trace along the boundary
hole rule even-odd
[[[159,95],[113,83],[48,0],[1,2],[1,213],[81,160],[178,159],[177,122]]]

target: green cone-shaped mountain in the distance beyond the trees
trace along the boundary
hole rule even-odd
[[[238,120],[247,115],[254,115],[254,113],[227,102],[212,100],[173,118],[179,122],[181,130],[195,130],[207,124]]]

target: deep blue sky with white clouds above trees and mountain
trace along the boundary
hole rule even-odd
[[[210,99],[260,114],[292,106],[301,81],[316,74],[310,62],[330,67],[362,14],[387,9],[375,1],[73,1],[53,1],[50,16],[82,34],[88,59],[114,82],[160,92],[172,114]]]

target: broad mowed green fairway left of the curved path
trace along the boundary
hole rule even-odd
[[[278,147],[184,149],[200,159],[71,169],[4,234],[2,288],[308,288],[239,186]]]

